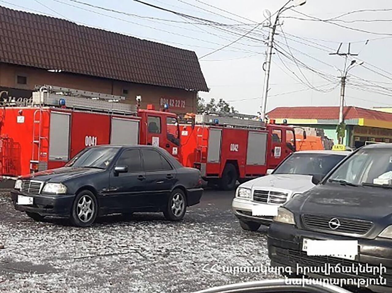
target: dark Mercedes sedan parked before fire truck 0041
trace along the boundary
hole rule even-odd
[[[183,167],[152,146],[95,146],[64,167],[19,178],[11,191],[15,209],[35,220],[70,218],[89,226],[97,216],[163,212],[179,221],[200,202],[200,171]]]

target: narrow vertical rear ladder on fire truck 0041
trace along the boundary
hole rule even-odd
[[[41,107],[34,111],[33,114],[33,146],[32,146],[32,154],[30,160],[30,169],[33,170],[32,165],[38,165],[38,171],[40,171],[40,161],[41,161],[41,146],[42,140],[48,140],[47,137],[42,136],[42,116],[44,113],[49,113],[47,110],[42,109]],[[38,128],[38,129],[37,129]],[[38,133],[38,135],[37,135]],[[44,169],[46,169],[44,167]]]

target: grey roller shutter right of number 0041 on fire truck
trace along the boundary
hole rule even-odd
[[[139,121],[124,118],[112,118],[110,144],[138,144]]]

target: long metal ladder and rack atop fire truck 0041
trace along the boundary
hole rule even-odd
[[[63,106],[66,108],[103,111],[123,115],[136,115],[137,106],[120,103],[123,96],[107,95],[104,93],[86,92],[58,86],[36,85],[38,92],[33,92],[33,105]]]

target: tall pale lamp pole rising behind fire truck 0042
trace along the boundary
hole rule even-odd
[[[288,4],[292,3],[291,6],[286,7]],[[269,75],[270,75],[270,70],[271,70],[271,58],[272,58],[272,47],[274,43],[274,34],[276,30],[276,26],[278,25],[278,20],[279,20],[279,15],[283,12],[286,11],[287,9],[294,8],[297,6],[301,6],[306,3],[306,0],[289,0],[281,9],[278,10],[276,13],[276,18],[274,25],[270,26],[270,33],[269,33],[269,38],[268,38],[268,48],[267,48],[267,58],[266,61],[263,64],[263,68],[265,68],[265,74],[264,74],[264,87],[263,87],[263,100],[261,102],[261,121],[265,120],[265,112],[267,109],[267,95],[268,95],[268,86],[269,86]],[[271,13],[267,10],[267,15],[268,18],[270,18]],[[271,23],[271,22],[270,22]]]

